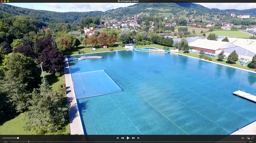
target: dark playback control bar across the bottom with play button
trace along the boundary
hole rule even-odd
[[[0,135],[0,143],[256,143],[256,135]]]

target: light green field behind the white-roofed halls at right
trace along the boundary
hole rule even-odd
[[[251,36],[250,34],[245,34],[240,31],[218,31],[218,30],[215,30],[212,32],[207,32],[205,34],[207,35],[210,33],[217,34],[218,36],[230,36],[230,37],[234,37],[234,38],[238,38],[238,37],[249,38]]]

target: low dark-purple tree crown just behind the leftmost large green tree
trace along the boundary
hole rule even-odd
[[[26,57],[31,57],[32,59],[37,59],[37,53],[34,50],[34,47],[31,47],[30,45],[27,46],[19,46],[15,48],[14,53],[21,53]]]

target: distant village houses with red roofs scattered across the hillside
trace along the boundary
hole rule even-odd
[[[185,10],[184,10],[185,11]],[[225,16],[221,16],[218,15],[220,17],[225,17]],[[112,17],[107,17],[104,20],[101,19],[101,25],[96,25],[95,27],[83,27],[83,29],[78,30],[78,32],[72,32],[71,34],[86,34],[87,36],[90,36],[92,34],[94,34],[95,30],[97,29],[101,29],[101,28],[110,28],[110,29],[120,29],[122,31],[124,30],[135,30],[137,28],[143,27],[143,25],[139,25],[137,23],[137,20],[141,17],[147,17],[147,14],[144,15],[136,15],[134,17],[126,17],[126,20],[116,20],[115,18]],[[214,18],[211,17],[212,20],[214,21],[219,21],[219,22],[205,22],[205,21],[209,21],[209,19],[207,18],[202,18],[202,19],[198,19],[198,18],[183,18],[186,20],[187,22],[187,26],[192,26],[195,28],[216,28],[219,30],[231,30],[232,26],[234,26],[234,24],[230,23],[230,22],[225,22],[225,20],[222,20],[221,18]],[[247,18],[256,18],[256,17],[250,17],[250,15],[238,15],[236,16],[236,14],[231,13],[230,17],[232,18],[242,18],[242,19],[247,19]],[[169,17],[170,18],[170,17]],[[172,23],[167,23],[167,21],[170,21],[170,19],[168,19],[167,17],[163,18],[163,21],[166,21],[165,23],[165,27],[172,27],[172,26],[178,26],[176,24],[176,20],[177,19],[181,19],[180,17],[172,17],[171,21],[173,21]],[[204,25],[201,25],[201,23],[204,23]],[[216,27],[218,25],[218,27]],[[143,27],[145,28],[145,27]],[[240,27],[238,27],[239,29]],[[45,31],[48,31],[50,28],[46,28]],[[256,26],[252,25],[252,26],[248,26],[246,29],[246,32],[249,33],[256,33]],[[83,31],[83,32],[82,32]],[[155,22],[152,21],[150,23],[150,26],[148,28],[148,31],[155,31]]]

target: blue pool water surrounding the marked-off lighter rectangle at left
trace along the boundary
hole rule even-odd
[[[87,135],[228,135],[256,120],[256,104],[232,94],[256,93],[254,73],[172,53],[86,56],[103,59],[72,61],[71,74],[104,69],[123,90],[77,100]]]

